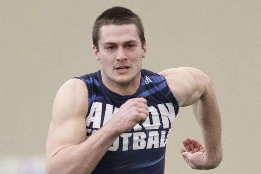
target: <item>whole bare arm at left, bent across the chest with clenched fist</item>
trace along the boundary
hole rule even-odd
[[[46,173],[91,173],[114,140],[149,114],[144,98],[128,100],[110,121],[86,139],[87,111],[85,83],[78,79],[68,80],[53,103],[46,142]],[[123,113],[128,112],[131,112],[130,117],[124,117]]]

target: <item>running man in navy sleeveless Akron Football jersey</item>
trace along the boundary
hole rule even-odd
[[[102,69],[68,80],[58,90],[46,173],[162,174],[168,131],[179,107],[188,105],[205,146],[188,137],[182,157],[194,169],[219,165],[220,113],[211,80],[203,72],[141,69],[146,56],[143,26],[138,15],[123,7],[97,18],[93,43]]]

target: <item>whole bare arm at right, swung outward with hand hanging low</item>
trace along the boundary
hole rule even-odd
[[[202,131],[205,152],[199,156],[204,160],[183,151],[185,161],[195,169],[217,167],[222,160],[221,118],[211,80],[202,71],[187,67],[167,69],[159,74],[166,77],[180,107],[192,105]]]

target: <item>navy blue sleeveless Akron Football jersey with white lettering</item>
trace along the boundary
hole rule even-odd
[[[139,89],[128,96],[109,90],[102,82],[100,70],[76,78],[86,83],[89,93],[87,137],[110,120],[130,98],[143,97],[149,107],[146,121],[121,134],[92,173],[163,174],[167,137],[179,108],[165,77],[142,69]]]

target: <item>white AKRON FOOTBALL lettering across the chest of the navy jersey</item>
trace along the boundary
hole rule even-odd
[[[175,119],[175,109],[172,103],[158,104],[157,106],[158,106],[158,110],[153,106],[149,107],[150,116],[148,116],[147,119],[144,121],[144,123],[142,123],[142,126],[145,128],[144,131],[140,132],[142,130],[142,126],[141,124],[136,124],[133,127],[134,130],[133,133],[127,132],[121,134],[120,135],[121,138],[117,137],[117,139],[113,142],[112,146],[108,150],[111,151],[118,150],[120,145],[120,140],[122,141],[121,142],[122,149],[120,148],[119,150],[122,151],[145,149],[145,148],[146,149],[161,148],[166,146],[167,138],[169,134],[169,131],[167,132],[166,130],[168,130],[172,126],[172,122]],[[111,104],[106,104],[103,125],[106,124],[116,113],[118,113],[118,111],[119,108],[115,107],[113,111],[113,106]],[[94,134],[100,128],[101,120],[102,120],[102,103],[94,102],[90,109],[90,114],[88,115],[88,117],[86,117],[87,133]],[[166,129],[166,130],[160,130],[160,129]],[[167,136],[166,136],[166,132],[167,132]],[[130,143],[132,143],[132,149],[129,148]]]

